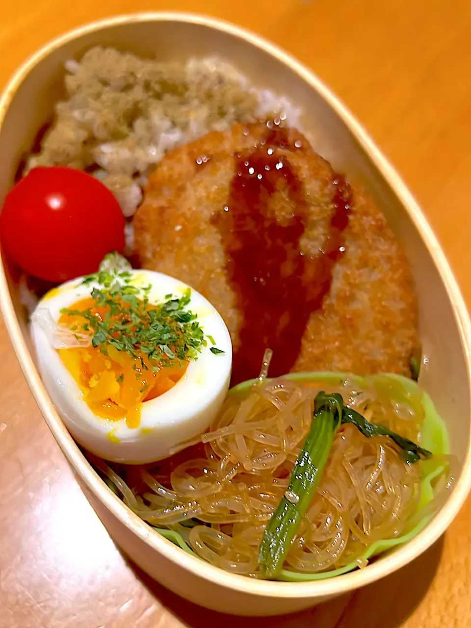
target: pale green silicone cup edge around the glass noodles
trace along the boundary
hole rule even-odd
[[[345,379],[347,379],[347,377],[351,378],[352,376],[346,373],[317,372],[290,373],[284,377],[286,377],[286,379],[293,379],[295,381],[320,381],[325,382],[326,384],[330,384],[331,386],[335,386],[341,384],[343,381],[345,381]],[[414,382],[412,379],[408,379],[407,377],[396,374],[388,373],[378,376],[372,376],[369,378],[369,380],[374,382],[374,385],[379,388],[390,387],[391,385],[393,385],[396,394],[398,392],[401,393],[402,390],[404,394],[404,399],[406,399],[409,394],[414,393],[414,391],[416,391],[418,388],[416,382]],[[243,394],[256,381],[256,379],[251,379],[249,381],[242,382],[241,384],[237,384],[237,386],[234,386],[230,389],[229,394]],[[359,386],[363,386],[365,384],[364,377],[355,376],[355,381],[358,382]],[[448,433],[445,422],[441,419],[440,416],[438,416],[435,407],[433,406],[433,402],[431,401],[430,397],[423,391],[421,404],[425,412],[425,418],[422,424],[420,439],[421,447],[424,447],[437,455],[449,453]],[[430,504],[430,502],[435,497],[432,483],[433,480],[438,477],[438,475],[440,475],[443,470],[445,470],[445,465],[443,465],[442,462],[438,462],[435,460],[423,460],[420,462],[420,464],[423,467],[424,475],[421,482],[421,499],[417,512],[414,515],[414,519],[418,519],[419,522],[402,536],[398,536],[394,539],[376,541],[376,543],[373,543],[368,549],[365,550],[360,558],[368,560],[373,556],[382,554],[388,549],[392,549],[398,545],[407,543],[408,541],[413,539],[414,536],[420,533],[420,531],[425,528],[426,524],[428,524],[431,517],[433,517],[433,513],[428,512],[420,519],[420,512],[427,504]],[[181,534],[178,534],[173,530],[166,530],[162,528],[154,528],[154,530],[156,530],[162,536],[165,536],[166,539],[169,539],[170,541],[178,545],[181,549],[192,554],[193,556],[196,556],[190,546],[185,543]],[[354,561],[340,569],[335,569],[333,571],[323,571],[322,573],[306,574],[283,569],[279,574],[277,580],[283,580],[284,582],[307,582],[309,580],[324,580],[325,578],[340,576],[342,573],[347,573],[348,571],[352,571],[357,568],[358,563],[357,561]]]

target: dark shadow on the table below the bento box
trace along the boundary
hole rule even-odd
[[[154,582],[137,566],[131,568],[173,615],[190,628],[399,628],[425,596],[440,563],[443,536],[423,555],[396,573],[356,592],[300,613],[279,617],[237,617],[205,610]],[[315,622],[315,624],[314,624]]]

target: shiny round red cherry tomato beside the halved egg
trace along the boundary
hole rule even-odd
[[[124,216],[93,176],[73,168],[33,168],[8,193],[0,215],[4,250],[26,273],[62,283],[95,273],[124,249]]]

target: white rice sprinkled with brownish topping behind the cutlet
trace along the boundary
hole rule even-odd
[[[68,100],[57,103],[55,121],[27,170],[86,169],[109,187],[128,219],[149,173],[176,146],[273,114],[300,128],[301,111],[288,97],[251,87],[215,57],[159,63],[97,47],[80,62],[65,62],[65,70]]]

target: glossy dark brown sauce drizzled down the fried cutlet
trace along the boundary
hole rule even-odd
[[[266,138],[248,155],[236,154],[236,175],[215,224],[227,256],[226,272],[243,323],[234,354],[232,384],[256,377],[266,348],[273,350],[269,375],[292,369],[311,313],[322,307],[335,263],[344,254],[352,192],[335,175],[335,211],[317,257],[303,254],[300,239],[309,205],[302,181],[279,149],[296,150],[284,129],[267,125]],[[272,127],[272,130],[270,130]],[[269,208],[277,190],[288,188],[295,215],[281,224]]]

